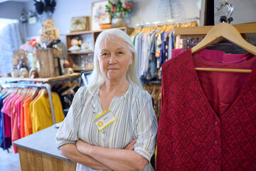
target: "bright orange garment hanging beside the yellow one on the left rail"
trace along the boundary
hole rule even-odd
[[[25,126],[25,136],[31,135],[32,132],[32,123],[31,123],[31,112],[30,112],[30,104],[32,102],[31,98],[28,98],[24,104],[24,126]]]

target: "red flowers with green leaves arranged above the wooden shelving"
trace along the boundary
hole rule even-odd
[[[132,9],[132,3],[127,0],[109,0],[106,5],[106,11],[110,14],[111,19],[115,15],[127,15]]]

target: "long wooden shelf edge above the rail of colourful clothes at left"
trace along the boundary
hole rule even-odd
[[[6,81],[6,82],[11,82],[11,81],[38,81],[38,82],[43,82],[47,83],[50,81],[58,81],[58,80],[64,80],[67,78],[72,78],[72,77],[80,77],[80,73],[72,73],[68,76],[57,76],[57,77],[50,77],[50,78],[11,78],[11,77],[2,77],[0,78],[0,81]]]

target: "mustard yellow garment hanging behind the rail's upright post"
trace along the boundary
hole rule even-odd
[[[52,97],[55,122],[60,123],[65,118],[60,98],[57,93],[52,93]],[[41,94],[32,104],[31,120],[33,133],[53,125],[53,119],[50,111],[50,99],[48,95]]]

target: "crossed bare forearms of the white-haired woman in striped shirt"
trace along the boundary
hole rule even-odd
[[[74,162],[96,170],[143,170],[149,163],[134,151],[136,140],[124,149],[98,147],[78,140],[60,146],[60,153]]]

